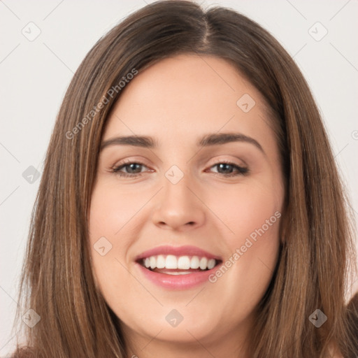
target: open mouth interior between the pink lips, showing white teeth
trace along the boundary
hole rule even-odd
[[[154,255],[138,260],[138,264],[149,271],[166,275],[188,275],[209,271],[219,265],[221,260],[200,256]]]

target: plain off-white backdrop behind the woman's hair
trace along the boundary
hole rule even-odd
[[[17,285],[40,182],[31,173],[43,170],[66,88],[94,43],[152,2],[0,1],[1,356],[15,343],[11,328]],[[357,219],[358,1],[202,2],[204,7],[212,4],[259,22],[294,57],[322,113]]]

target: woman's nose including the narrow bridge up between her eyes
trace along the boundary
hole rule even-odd
[[[164,187],[153,215],[155,224],[172,229],[201,225],[205,213],[201,201],[193,194],[194,185],[189,173],[173,165],[164,177]]]

